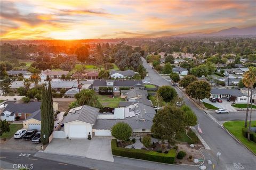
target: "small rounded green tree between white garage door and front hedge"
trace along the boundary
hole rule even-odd
[[[111,135],[123,142],[131,137],[132,128],[128,123],[118,122],[111,128]]]

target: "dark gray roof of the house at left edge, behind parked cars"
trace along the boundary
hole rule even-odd
[[[9,103],[4,108],[3,112],[8,111],[13,114],[14,113],[33,113],[35,111],[38,111],[38,109],[40,109],[40,106],[41,106],[41,102],[39,101],[33,101],[29,103]]]

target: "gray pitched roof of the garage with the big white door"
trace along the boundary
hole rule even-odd
[[[68,115],[63,119],[61,124],[76,121],[76,120],[90,123],[90,124],[95,124],[95,121],[97,119],[100,109],[87,106],[87,105],[80,106],[80,107],[82,108],[79,110],[76,110],[75,113],[73,113],[72,111],[79,107],[70,109]]]

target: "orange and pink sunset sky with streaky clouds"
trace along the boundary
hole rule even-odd
[[[256,1],[1,0],[1,39],[162,37],[256,24]]]

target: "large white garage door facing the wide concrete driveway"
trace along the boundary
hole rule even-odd
[[[69,137],[70,138],[87,138],[86,125],[70,124]]]

